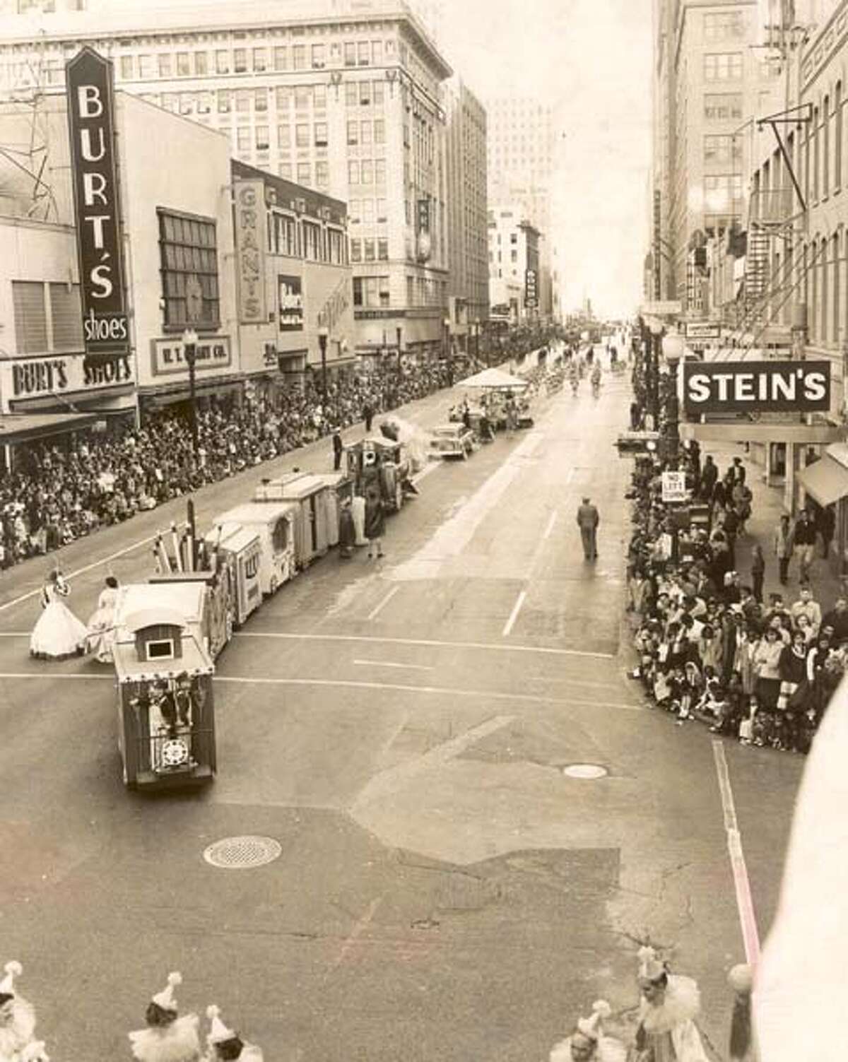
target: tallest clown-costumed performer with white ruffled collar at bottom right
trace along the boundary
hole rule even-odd
[[[671,974],[652,947],[639,949],[637,1062],[709,1062],[695,1016],[700,992],[691,977]]]

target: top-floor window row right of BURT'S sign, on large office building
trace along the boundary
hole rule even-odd
[[[215,73],[285,73],[325,67],[381,66],[393,59],[393,40],[347,40],[344,44],[275,45],[271,48],[218,48],[214,51],[175,51],[121,55],[122,81],[153,78],[207,78]]]

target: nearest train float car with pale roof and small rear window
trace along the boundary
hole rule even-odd
[[[202,583],[121,588],[116,607],[118,748],[128,788],[210,782],[215,665],[201,631]]]

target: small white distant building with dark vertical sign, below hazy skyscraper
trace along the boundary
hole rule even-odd
[[[527,305],[528,271],[539,276],[540,234],[524,217],[522,207],[514,203],[489,210],[491,313],[513,324],[525,324],[540,314],[538,305]]]

